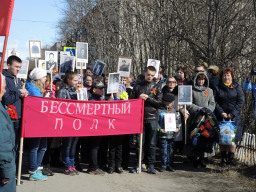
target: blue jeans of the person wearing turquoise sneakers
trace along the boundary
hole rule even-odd
[[[29,170],[36,171],[41,166],[47,148],[47,138],[29,138]]]

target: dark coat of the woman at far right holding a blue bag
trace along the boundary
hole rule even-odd
[[[223,83],[219,83],[214,88],[214,97],[216,101],[215,115],[218,121],[222,121],[222,113],[234,115],[232,121],[237,123],[236,141],[242,139],[242,117],[241,110],[244,103],[244,94],[241,86],[236,82],[228,87]]]

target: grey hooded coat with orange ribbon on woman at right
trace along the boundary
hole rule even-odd
[[[206,107],[211,111],[215,109],[215,101],[213,96],[213,91],[209,88],[209,80],[205,75],[205,83],[204,86],[200,89],[200,87],[196,83],[196,79],[198,75],[205,75],[203,72],[199,72],[196,74],[192,87],[192,105],[188,105],[187,109],[190,113],[195,113],[199,110],[199,107]]]

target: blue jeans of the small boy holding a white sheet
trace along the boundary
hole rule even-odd
[[[174,139],[159,139],[160,144],[160,154],[161,154],[161,167],[166,169],[166,167],[171,166],[172,156],[173,156],[173,141]]]

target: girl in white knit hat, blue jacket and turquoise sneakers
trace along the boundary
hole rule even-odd
[[[46,70],[35,68],[30,72],[30,81],[26,83],[29,95],[43,97],[46,81]],[[47,148],[47,138],[29,138],[29,180],[43,181],[47,176],[42,174],[41,166]]]

